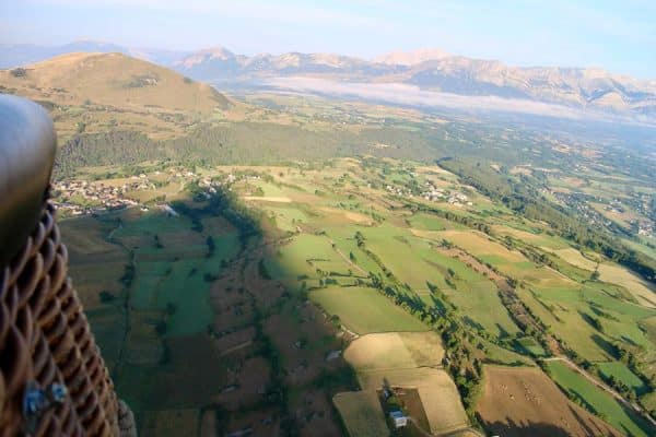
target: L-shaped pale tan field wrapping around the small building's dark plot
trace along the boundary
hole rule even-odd
[[[379,389],[385,379],[393,387],[415,388],[432,434],[450,433],[469,426],[456,385],[445,370],[429,367],[372,370],[358,377],[365,390]]]

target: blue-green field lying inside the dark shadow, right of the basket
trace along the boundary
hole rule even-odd
[[[114,239],[134,253],[130,304],[137,310],[169,312],[167,335],[207,330],[213,314],[210,282],[204,276],[219,275],[222,261],[237,255],[237,234],[213,235],[214,249],[208,257],[206,236],[191,232],[191,223],[184,216],[149,213],[137,220],[126,218]],[[160,246],[153,243],[155,235]]]

